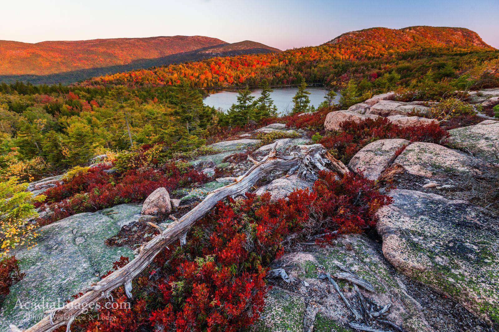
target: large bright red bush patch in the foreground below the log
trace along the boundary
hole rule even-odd
[[[115,301],[131,301],[130,308],[101,306],[75,325],[87,332],[239,331],[259,318],[268,265],[283,253],[286,236],[359,232],[390,202],[374,181],[353,173],[336,180],[329,172],[288,200],[246,194],[219,202],[190,230],[186,245],[170,245],[134,280],[133,300],[122,288],[114,291]]]

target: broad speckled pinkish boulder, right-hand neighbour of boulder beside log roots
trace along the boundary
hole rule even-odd
[[[452,174],[474,172],[473,157],[445,146],[415,142],[395,159],[405,171],[426,178],[448,178]]]

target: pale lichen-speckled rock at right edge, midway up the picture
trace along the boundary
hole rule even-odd
[[[450,146],[466,149],[499,162],[499,121],[486,120],[479,124],[451,129],[449,134]]]

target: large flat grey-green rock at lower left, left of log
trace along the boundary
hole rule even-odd
[[[0,331],[8,331],[8,324],[27,328],[45,316],[43,312],[48,308],[41,306],[43,301],[61,307],[72,299],[71,295],[100,280],[120,256],[132,259],[132,250],[108,247],[104,242],[123,225],[136,221],[140,209],[140,205],[123,204],[42,227],[37,244],[15,254],[26,275],[10,288],[5,298]]]

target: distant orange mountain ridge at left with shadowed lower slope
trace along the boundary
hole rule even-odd
[[[230,44],[204,36],[44,41],[0,40],[0,81],[69,83],[138,68],[230,56],[279,52],[252,41]]]

